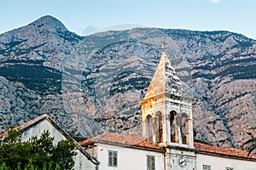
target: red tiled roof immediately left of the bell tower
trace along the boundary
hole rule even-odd
[[[103,133],[99,136],[96,136],[92,139],[85,139],[84,141],[79,142],[82,146],[93,144],[96,142],[106,142],[113,144],[125,144],[127,146],[136,146],[148,149],[157,149],[162,150],[162,148],[147,139],[138,137],[137,135],[131,134],[117,134],[117,133]]]

